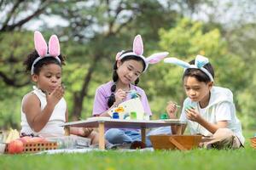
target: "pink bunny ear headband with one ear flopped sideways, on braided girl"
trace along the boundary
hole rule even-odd
[[[169,54],[168,52],[162,52],[162,53],[152,54],[148,58],[145,58],[143,56],[143,39],[142,39],[141,35],[137,35],[134,38],[132,52],[125,53],[125,54],[123,54],[123,53],[124,53],[124,51],[121,51],[118,54],[116,54],[116,60],[124,59],[125,57],[131,56],[131,55],[137,56],[137,57],[143,59],[145,65],[146,65],[143,72],[147,70],[148,64],[156,64],[156,63],[160,62],[161,59],[164,59]]]

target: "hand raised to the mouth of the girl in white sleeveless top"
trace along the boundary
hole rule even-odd
[[[47,104],[56,105],[64,95],[64,88],[60,85],[51,94],[46,93]]]

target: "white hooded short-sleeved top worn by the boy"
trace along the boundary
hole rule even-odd
[[[241,133],[241,122],[236,117],[236,108],[233,103],[233,94],[228,88],[213,87],[211,90],[211,98],[207,107],[201,109],[199,103],[192,102],[189,98],[183,102],[183,110],[180,116],[181,121],[188,122],[191,134],[201,133],[205,136],[211,136],[205,127],[197,122],[189,121],[186,117],[185,107],[193,105],[195,110],[207,121],[216,124],[219,121],[227,121],[228,127],[232,130],[241,144],[244,144],[244,137]]]

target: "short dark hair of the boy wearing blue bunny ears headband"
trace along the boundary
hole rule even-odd
[[[195,59],[191,60],[189,62],[190,65],[194,65],[195,64]],[[212,75],[212,78],[214,78],[214,71],[213,71],[213,67],[211,65],[211,63],[207,63],[207,65],[203,66],[205,69],[207,69],[207,71],[209,71]],[[204,73],[203,71],[201,71],[200,69],[195,69],[195,68],[189,68],[186,71],[184,71],[183,73],[183,80],[185,77],[195,77],[197,81],[199,82],[211,82],[210,77],[207,76],[206,73]]]

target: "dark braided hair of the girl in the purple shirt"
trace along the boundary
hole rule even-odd
[[[132,52],[132,50],[127,50],[122,54],[130,53],[130,52]],[[131,59],[142,62],[143,63],[143,71],[145,70],[146,64],[145,64],[144,60],[141,59],[140,57],[135,56],[135,55],[125,56],[125,58],[121,59],[121,62],[123,63],[123,62],[125,62],[127,60],[131,60]],[[112,78],[113,78],[114,83],[113,83],[113,86],[110,88],[111,95],[108,97],[108,107],[111,107],[113,105],[113,103],[115,102],[114,91],[116,90],[116,82],[119,80],[119,76],[117,74],[117,69],[118,68],[117,68],[117,60],[116,60],[113,64],[113,76],[112,76]],[[134,84],[137,85],[139,81],[140,80],[139,80],[139,77],[138,77],[137,80],[134,82]]]

